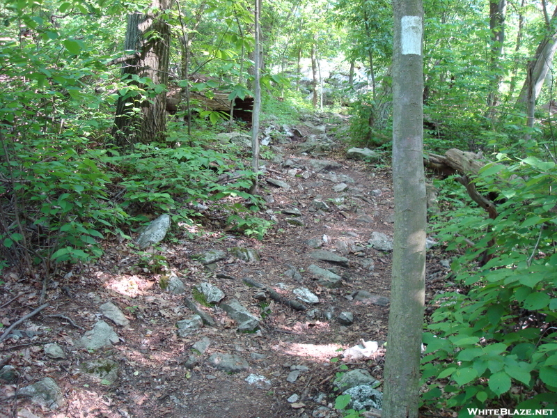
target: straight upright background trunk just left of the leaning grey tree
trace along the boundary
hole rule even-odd
[[[501,74],[501,56],[503,55],[503,44],[505,42],[505,9],[506,0],[489,1],[489,30],[491,37],[491,86],[487,95],[487,113],[493,118],[494,108],[499,100],[499,84],[503,75]]]

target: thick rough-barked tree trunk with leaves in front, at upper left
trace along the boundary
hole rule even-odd
[[[116,145],[128,146],[141,142],[164,140],[166,130],[166,83],[168,82],[168,45],[170,29],[161,19],[161,10],[170,7],[171,0],[153,0],[146,15],[127,16],[126,51],[136,52],[133,59],[123,65],[122,75],[129,84],[145,92],[120,95],[116,104],[116,118],[112,130]],[[149,38],[145,33],[152,33]],[[150,79],[150,83],[132,81],[132,76]],[[164,89],[160,88],[164,86]],[[158,86],[158,87],[157,87]]]

